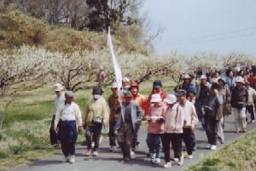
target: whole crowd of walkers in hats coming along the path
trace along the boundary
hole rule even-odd
[[[82,112],[74,102],[74,94],[65,94],[61,84],[55,84],[55,113],[49,130],[51,144],[61,143],[64,162],[75,161],[75,143],[78,131],[85,131],[86,157],[99,155],[102,127],[108,125],[110,151],[120,148],[124,162],[130,162],[142,142],[138,141],[141,123],[147,123],[148,157],[160,163],[160,151],[164,151],[164,168],[173,164],[183,165],[184,156],[193,158],[196,151],[195,128],[201,123],[205,129],[208,148],[216,150],[224,144],[225,117],[233,115],[234,130],[246,133],[247,123],[254,123],[256,102],[256,69],[247,67],[226,71],[199,69],[183,76],[183,82],[167,94],[160,80],[155,80],[151,94],[140,94],[139,85],[123,78],[122,88],[111,86],[108,100],[102,96],[102,88],[92,90],[90,100]],[[247,115],[249,114],[249,115]],[[247,117],[249,116],[249,117]],[[187,154],[182,151],[184,143]],[[171,148],[172,147],[172,148]],[[171,149],[173,160],[171,162]]]

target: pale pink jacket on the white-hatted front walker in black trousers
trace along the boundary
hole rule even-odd
[[[183,133],[184,110],[180,105],[174,105],[172,108],[167,108],[164,113],[165,118],[165,133]]]

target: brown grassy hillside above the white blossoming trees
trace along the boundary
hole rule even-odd
[[[125,37],[125,31],[118,31],[113,37],[113,42],[126,53],[148,53],[143,45]],[[104,32],[75,31],[67,27],[49,26],[44,20],[35,19],[16,10],[0,14],[0,49],[29,45],[68,53],[102,49],[106,47],[106,43]]]

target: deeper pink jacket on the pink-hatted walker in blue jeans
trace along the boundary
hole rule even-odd
[[[148,133],[150,134],[164,134],[164,122],[160,122],[158,118],[164,117],[164,112],[166,111],[165,105],[151,105],[149,108],[149,117],[151,120],[148,121]]]

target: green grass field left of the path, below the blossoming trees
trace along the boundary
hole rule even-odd
[[[168,92],[173,88],[171,82],[164,82],[163,85]],[[142,83],[142,94],[148,95],[151,89],[151,81]],[[104,88],[104,91],[107,98],[110,89]],[[75,100],[81,110],[84,109],[90,94],[91,90],[81,90],[75,94]],[[32,162],[56,152],[49,145],[49,125],[54,110],[53,98],[51,87],[38,88],[16,97],[9,106],[0,140],[0,170]],[[3,105],[0,101],[1,106]],[[0,114],[2,112],[3,108],[0,108]],[[82,141],[84,134],[79,134],[79,143]]]

